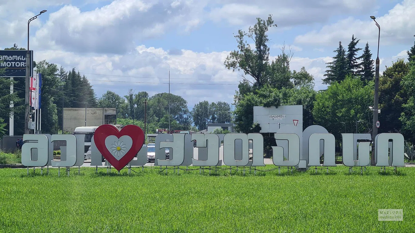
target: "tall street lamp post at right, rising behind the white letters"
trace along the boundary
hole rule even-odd
[[[379,29],[379,34],[378,34],[378,57],[376,58],[376,70],[375,70],[375,96],[374,96],[374,109],[373,109],[373,131],[372,131],[372,156],[371,156],[371,165],[375,165],[375,138],[376,135],[378,135],[378,128],[376,127],[376,121],[378,121],[378,98],[379,98],[379,65],[380,65],[380,60],[379,60],[379,42],[381,39],[381,26],[379,26],[378,22],[376,22],[376,17],[371,16],[371,19],[373,19],[373,21],[375,21],[376,26]]]

